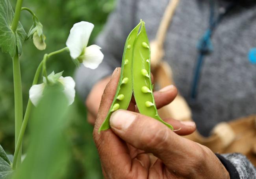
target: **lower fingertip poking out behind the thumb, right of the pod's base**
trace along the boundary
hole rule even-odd
[[[179,121],[171,118],[164,119],[165,122],[171,124],[174,131],[178,135],[189,135],[196,130],[196,124],[193,121]]]

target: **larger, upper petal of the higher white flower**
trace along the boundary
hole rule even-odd
[[[87,46],[93,28],[92,23],[85,21],[78,22],[71,28],[66,45],[73,59],[79,57]]]

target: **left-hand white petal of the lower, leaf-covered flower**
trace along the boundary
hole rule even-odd
[[[39,85],[33,85],[29,90],[29,98],[33,105],[37,105],[39,100],[43,96],[43,90],[45,88],[45,84],[41,83]]]

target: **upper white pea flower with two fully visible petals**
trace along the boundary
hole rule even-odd
[[[87,47],[94,25],[90,22],[78,22],[70,30],[66,45],[72,59],[78,59],[87,68],[95,69],[100,65],[104,55],[97,45]]]

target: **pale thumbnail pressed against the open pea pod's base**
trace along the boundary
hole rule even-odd
[[[110,126],[119,130],[126,130],[135,120],[136,115],[125,110],[115,111],[109,120]]]

